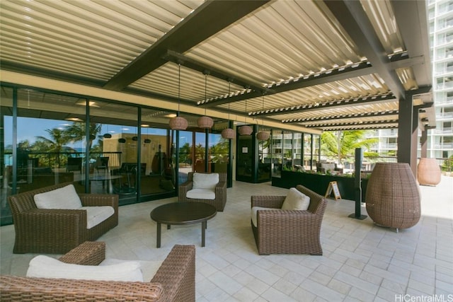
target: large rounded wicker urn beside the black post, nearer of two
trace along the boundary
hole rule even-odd
[[[380,226],[415,226],[420,220],[420,193],[408,163],[377,163],[365,202],[369,217]]]

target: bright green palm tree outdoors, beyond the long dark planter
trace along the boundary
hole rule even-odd
[[[323,132],[321,134],[321,153],[328,157],[337,158],[338,164],[354,156],[356,148],[369,149],[378,139],[367,139],[367,130],[347,130],[338,132]]]

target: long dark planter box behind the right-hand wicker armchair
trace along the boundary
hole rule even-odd
[[[316,173],[302,173],[293,171],[282,171],[281,178],[273,178],[272,185],[275,187],[296,187],[296,185],[304,185],[310,190],[324,196],[329,182],[336,181],[338,190],[340,190],[342,199],[355,200],[355,179],[348,176],[340,175],[322,175]],[[368,179],[362,179],[362,201],[365,202],[365,194],[367,192]]]

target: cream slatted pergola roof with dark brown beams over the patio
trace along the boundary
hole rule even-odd
[[[0,39],[2,83],[150,106],[160,124],[397,128],[412,167],[435,127],[425,1],[4,0]]]

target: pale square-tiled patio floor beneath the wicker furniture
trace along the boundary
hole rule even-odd
[[[195,244],[200,302],[453,301],[453,178],[420,187],[423,216],[413,228],[396,233],[374,226],[369,217],[348,218],[354,203],[329,199],[323,256],[260,256],[250,226],[250,196],[286,192],[270,183],[234,182],[225,211],[208,221],[205,248],[200,225],[162,228],[162,248],[156,248],[149,212],[176,197],[120,207],[119,226],[98,240],[107,243],[108,257],[140,260],[145,279],[174,244]],[[0,236],[1,274],[24,275],[35,255],[12,254],[13,226],[2,226]]]

